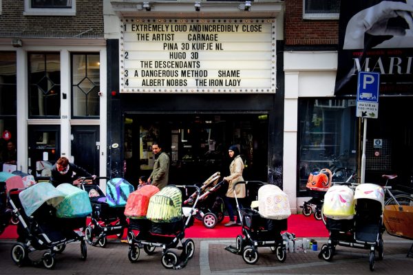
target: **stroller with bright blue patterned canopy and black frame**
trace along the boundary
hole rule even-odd
[[[83,178],[81,188],[88,192],[90,204],[92,205],[92,216],[89,225],[85,229],[87,243],[105,248],[107,236],[115,235],[122,239],[125,228],[128,227],[125,217],[125,205],[127,197],[134,192],[134,186],[125,179],[108,177],[96,177],[98,179],[109,179],[106,183],[106,195],[100,189],[99,184],[91,181],[92,177]]]

